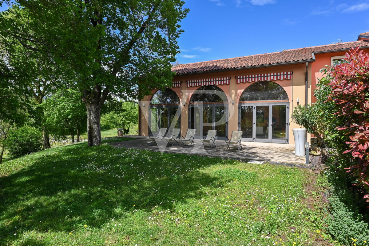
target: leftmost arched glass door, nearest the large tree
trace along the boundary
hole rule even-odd
[[[162,127],[171,133],[180,128],[180,101],[172,89],[158,90],[152,96],[149,113],[149,136],[156,136]]]

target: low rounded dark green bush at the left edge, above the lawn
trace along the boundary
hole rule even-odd
[[[27,125],[18,129],[11,129],[8,131],[5,146],[12,158],[31,154],[41,150],[42,133],[38,129]]]

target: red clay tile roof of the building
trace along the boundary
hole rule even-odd
[[[369,47],[368,41],[352,41],[339,44],[327,44],[299,49],[287,49],[282,52],[273,52],[246,57],[235,57],[214,61],[194,62],[173,66],[172,71],[177,75],[217,71],[223,69],[249,68],[263,65],[276,65],[286,62],[304,62],[314,59],[313,52],[335,51],[352,47]]]

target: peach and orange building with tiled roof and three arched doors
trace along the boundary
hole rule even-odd
[[[293,108],[314,102],[320,70],[343,62],[353,47],[369,52],[369,33],[352,42],[176,65],[171,88],[139,101],[138,134],[166,127],[184,136],[194,128],[199,138],[218,130],[217,139],[226,139],[241,130],[243,141],[294,144],[292,129],[300,126]]]

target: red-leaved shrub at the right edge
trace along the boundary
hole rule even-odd
[[[345,168],[357,178],[354,185],[369,189],[369,55],[359,48],[346,53],[347,63],[339,64],[328,71],[331,81],[333,101],[339,108],[338,115],[343,126],[337,127],[346,139],[349,149],[342,154],[351,153],[352,163]],[[369,194],[365,195],[369,202]]]

